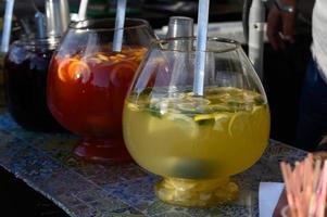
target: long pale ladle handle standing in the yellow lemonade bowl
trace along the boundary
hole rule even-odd
[[[210,0],[199,0],[198,44],[196,50],[194,84],[193,84],[193,92],[196,95],[203,95],[209,4],[210,4]]]

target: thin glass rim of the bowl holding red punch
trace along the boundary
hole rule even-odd
[[[77,30],[97,30],[97,31],[113,31],[117,29],[136,29],[136,28],[141,28],[141,27],[148,27],[150,26],[149,23],[146,20],[142,18],[125,18],[125,24],[126,21],[130,22],[138,22],[137,25],[135,26],[124,26],[123,28],[111,28],[111,27],[90,27],[91,25],[95,25],[97,23],[115,23],[115,18],[89,18],[89,20],[84,20],[84,21],[78,21],[78,22],[72,22],[70,24],[70,28],[72,29],[77,29]]]

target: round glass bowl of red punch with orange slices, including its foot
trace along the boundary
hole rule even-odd
[[[113,51],[115,20],[73,23],[53,55],[48,105],[67,130],[81,137],[73,153],[90,162],[129,159],[122,132],[124,100],[153,31],[126,18],[122,51]]]

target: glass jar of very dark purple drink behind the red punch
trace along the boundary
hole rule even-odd
[[[47,106],[47,77],[55,38],[15,41],[4,60],[7,106],[28,130],[62,131]]]

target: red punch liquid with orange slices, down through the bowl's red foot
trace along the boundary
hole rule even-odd
[[[110,49],[109,49],[110,50]],[[83,136],[74,153],[87,161],[129,158],[122,133],[126,93],[147,49],[56,55],[48,77],[48,105],[66,129]]]

